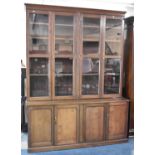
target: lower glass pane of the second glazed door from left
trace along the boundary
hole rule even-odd
[[[55,96],[73,94],[73,59],[55,59]]]

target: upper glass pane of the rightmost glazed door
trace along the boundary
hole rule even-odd
[[[106,19],[105,54],[120,55],[122,20]]]

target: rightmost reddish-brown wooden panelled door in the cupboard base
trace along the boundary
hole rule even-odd
[[[109,139],[126,138],[128,104],[109,107]]]

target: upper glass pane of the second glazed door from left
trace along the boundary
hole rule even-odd
[[[73,16],[55,17],[55,54],[73,53]]]

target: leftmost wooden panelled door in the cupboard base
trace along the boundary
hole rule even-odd
[[[52,143],[51,109],[34,109],[30,112],[30,140],[32,146],[47,146]]]

